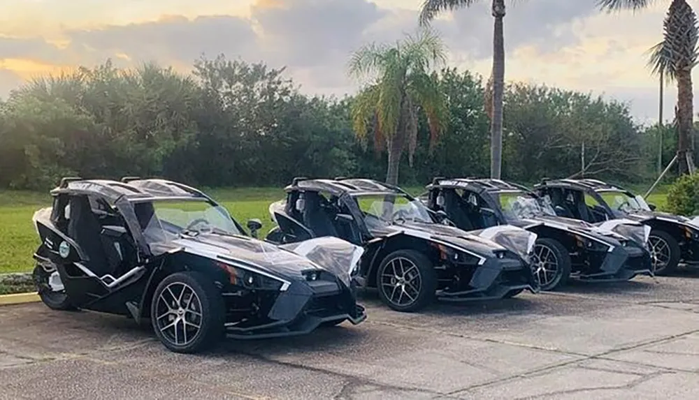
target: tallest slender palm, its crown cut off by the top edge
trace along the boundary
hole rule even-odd
[[[424,0],[420,12],[421,25],[431,22],[440,12],[456,8],[470,7],[477,0]],[[505,18],[505,0],[492,0],[492,14],[495,19],[493,28],[493,71],[492,71],[492,116],[490,122],[490,175],[500,179],[503,163],[503,91],[505,90],[505,38],[503,19]],[[486,103],[486,109],[490,104]]]

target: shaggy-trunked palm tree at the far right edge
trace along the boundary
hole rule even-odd
[[[637,10],[653,3],[653,0],[598,0],[603,10]],[[699,55],[697,16],[686,0],[672,0],[663,22],[663,40],[651,47],[649,66],[655,75],[668,82],[677,82],[677,161],[679,174],[689,172],[686,154],[689,151],[693,131],[692,68]]]

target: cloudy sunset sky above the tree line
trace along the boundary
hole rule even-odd
[[[0,98],[32,77],[106,59],[124,68],[157,61],[186,73],[202,55],[218,54],[286,66],[308,94],[351,94],[358,88],[346,73],[352,50],[414,32],[422,1],[0,0]],[[658,77],[647,68],[647,50],[661,40],[670,0],[613,14],[595,3],[508,2],[505,80],[614,98],[629,103],[637,121],[652,123]],[[689,3],[699,12],[699,0]],[[492,65],[489,4],[445,13],[433,24],[449,66],[485,79]],[[675,96],[675,84],[666,85],[663,119],[672,118]]]

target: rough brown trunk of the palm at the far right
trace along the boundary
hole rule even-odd
[[[693,132],[693,94],[691,69],[677,71],[677,156],[679,175],[689,172],[686,154],[689,151]]]

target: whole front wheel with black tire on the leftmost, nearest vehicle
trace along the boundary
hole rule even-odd
[[[182,288],[184,295],[177,291],[178,288]],[[189,292],[193,292],[196,297],[189,295]],[[185,302],[187,303],[184,304]],[[178,307],[177,310],[175,306]],[[166,312],[165,309],[169,311]],[[224,336],[223,297],[206,275],[199,272],[175,272],[166,276],[155,289],[150,306],[150,320],[156,336],[166,348],[175,353],[197,353],[215,346]],[[194,336],[188,339],[187,326],[194,329],[197,325],[199,328]],[[182,334],[183,341],[179,340],[178,334]]]

